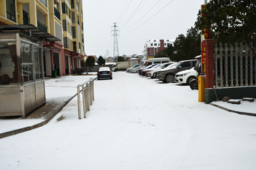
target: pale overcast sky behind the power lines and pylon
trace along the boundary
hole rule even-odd
[[[113,23],[119,55],[141,54],[149,39],[176,39],[194,26],[204,0],[82,1],[86,55],[113,56]]]

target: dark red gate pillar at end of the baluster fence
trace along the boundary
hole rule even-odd
[[[213,88],[213,47],[215,40],[204,40],[206,43],[206,88]]]

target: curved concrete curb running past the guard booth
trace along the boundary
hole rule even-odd
[[[50,120],[52,120],[55,117],[55,115],[57,115],[77,95],[78,94],[75,94],[74,96],[72,96],[68,100],[64,101],[63,103],[60,103],[60,105],[57,106],[53,111],[50,111],[50,114],[49,114],[50,116],[48,116],[48,118],[46,118],[46,120],[43,120],[43,122],[38,123],[36,125],[20,128],[20,129],[17,129],[17,130],[11,130],[9,132],[0,133],[0,139],[4,138],[4,137],[9,137],[11,135],[16,135],[16,134],[21,133],[21,132],[26,132],[28,130],[33,130],[33,129],[39,128],[43,125],[46,125],[48,122],[50,122]]]

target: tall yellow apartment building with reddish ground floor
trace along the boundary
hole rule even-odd
[[[0,26],[33,25],[60,41],[43,43],[45,76],[73,74],[85,56],[82,0],[0,0]]]

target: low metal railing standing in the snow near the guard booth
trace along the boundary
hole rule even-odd
[[[94,81],[95,79],[91,78],[83,84],[78,85],[78,118],[81,119],[81,100],[80,92],[82,91],[82,106],[84,118],[86,118],[86,112],[90,111],[90,105],[92,101],[95,100],[94,97]]]

